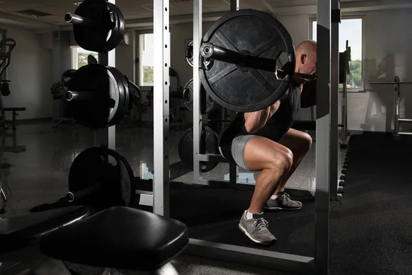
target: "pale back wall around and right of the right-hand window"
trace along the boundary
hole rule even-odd
[[[366,89],[363,93],[350,93],[347,98],[347,120],[350,130],[392,131],[393,129],[393,87],[371,86],[375,81],[369,76],[382,58],[391,54],[393,65],[389,68],[388,80],[400,76],[401,80],[412,81],[412,33],[409,30],[412,9],[377,10],[363,12],[363,74]],[[290,32],[295,45],[309,39],[309,15],[279,17]],[[349,40],[350,43],[350,40]],[[400,114],[412,118],[412,85],[402,86]],[[341,111],[339,110],[339,119]],[[309,119],[310,109],[302,109],[299,119]],[[412,128],[412,127],[410,127]]]

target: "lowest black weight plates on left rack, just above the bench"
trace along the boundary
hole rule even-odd
[[[109,157],[115,159],[115,164]],[[69,191],[76,193],[98,183],[101,188],[73,203],[91,206],[97,211],[111,206],[130,206],[135,195],[134,176],[130,171],[128,162],[111,149],[92,147],[82,151],[70,167]]]

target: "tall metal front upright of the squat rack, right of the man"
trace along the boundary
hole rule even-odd
[[[317,0],[317,104],[316,104],[316,192],[315,192],[315,274],[329,269],[330,201],[330,25],[331,4],[339,0]],[[336,5],[336,4],[335,4]],[[333,62],[337,62],[334,60]],[[337,111],[337,110],[332,110]],[[337,126],[337,123],[335,124]],[[333,130],[335,131],[335,127]]]

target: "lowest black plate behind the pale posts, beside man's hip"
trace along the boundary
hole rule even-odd
[[[202,129],[202,138],[205,137],[205,153],[219,154],[218,134],[207,126]],[[201,146],[202,148],[202,146]],[[179,157],[187,168],[193,170],[193,128],[187,129],[179,140]],[[203,173],[213,170],[218,165],[217,162],[201,162]]]

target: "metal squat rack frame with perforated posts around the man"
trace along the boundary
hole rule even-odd
[[[114,3],[115,0],[109,0]],[[202,32],[202,0],[194,0],[194,153],[201,161],[220,162],[216,155],[201,155],[199,143],[201,138],[202,120],[200,115],[201,98],[199,96],[200,80],[198,76],[199,48]],[[239,0],[231,0],[231,11],[239,9]],[[316,148],[316,192],[315,192],[315,253],[314,257],[299,256],[245,248],[225,243],[213,243],[199,239],[190,239],[186,253],[207,258],[231,261],[258,267],[266,267],[288,272],[328,274],[329,261],[329,211],[330,186],[336,185],[337,152],[338,152],[338,91],[339,91],[339,0],[317,0],[317,43],[318,43],[318,79],[317,79],[317,146]],[[333,10],[333,11],[332,11]],[[339,17],[336,16],[339,12]],[[332,20],[333,14],[333,20]],[[332,21],[334,22],[332,24]],[[137,190],[148,205],[153,206],[153,212],[165,217],[170,213],[169,192],[169,83],[170,67],[170,32],[169,32],[169,1],[154,0],[154,168],[153,192]],[[332,25],[332,32],[331,32]],[[332,36],[332,39],[331,39]],[[331,43],[332,41],[332,43]],[[328,54],[325,54],[328,53]],[[332,56],[331,56],[332,53]],[[113,57],[113,59],[111,59]],[[100,57],[100,60],[101,57]],[[109,65],[114,64],[113,51],[108,54]],[[334,61],[334,62],[331,62]],[[332,64],[332,67],[331,67]],[[331,74],[332,72],[332,74]],[[331,91],[333,91],[331,93]],[[332,115],[331,115],[332,113]],[[114,148],[114,126],[108,129],[108,146]],[[232,166],[233,167],[233,166]],[[236,166],[235,166],[236,167]],[[199,162],[194,162],[195,175],[199,175]],[[233,177],[231,168],[231,177]],[[235,173],[237,175],[237,173]],[[201,179],[198,177],[197,179]],[[196,180],[197,180],[196,179]],[[231,182],[233,179],[231,179]],[[235,178],[236,180],[236,178]],[[236,182],[236,181],[235,181]],[[211,184],[205,181],[203,184]],[[195,182],[202,184],[202,182]]]

